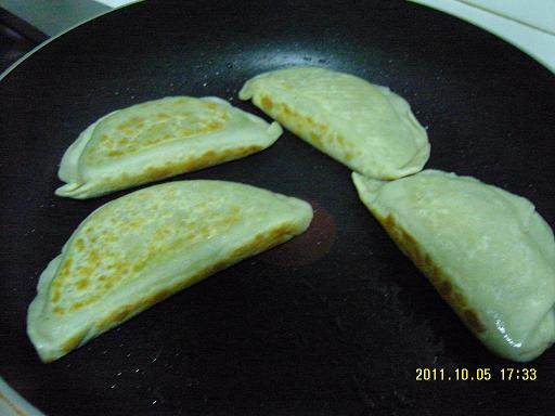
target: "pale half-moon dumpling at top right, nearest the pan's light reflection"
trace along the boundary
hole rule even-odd
[[[248,80],[238,96],[372,178],[418,172],[429,158],[426,130],[406,101],[352,75],[304,66],[274,70]]]

